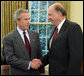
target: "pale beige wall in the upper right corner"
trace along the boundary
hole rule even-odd
[[[83,31],[83,1],[70,1],[70,20],[77,22]]]

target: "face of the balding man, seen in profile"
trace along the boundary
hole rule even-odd
[[[52,25],[54,26],[58,25],[59,15],[53,7],[50,7],[48,9],[48,20],[51,21]]]

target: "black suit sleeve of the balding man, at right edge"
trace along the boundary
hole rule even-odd
[[[77,74],[83,59],[83,34],[78,24],[69,30],[68,37],[70,59],[67,74]]]

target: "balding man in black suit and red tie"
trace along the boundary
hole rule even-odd
[[[80,26],[66,19],[66,11],[60,3],[49,7],[48,19],[55,30],[48,42],[49,52],[41,59],[42,64],[49,64],[49,75],[81,75],[83,34]]]

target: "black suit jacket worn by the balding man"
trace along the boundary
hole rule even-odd
[[[59,34],[52,41],[48,54],[41,60],[44,65],[49,63],[50,75],[80,75],[82,59],[83,34],[81,28],[78,24],[66,20]]]

